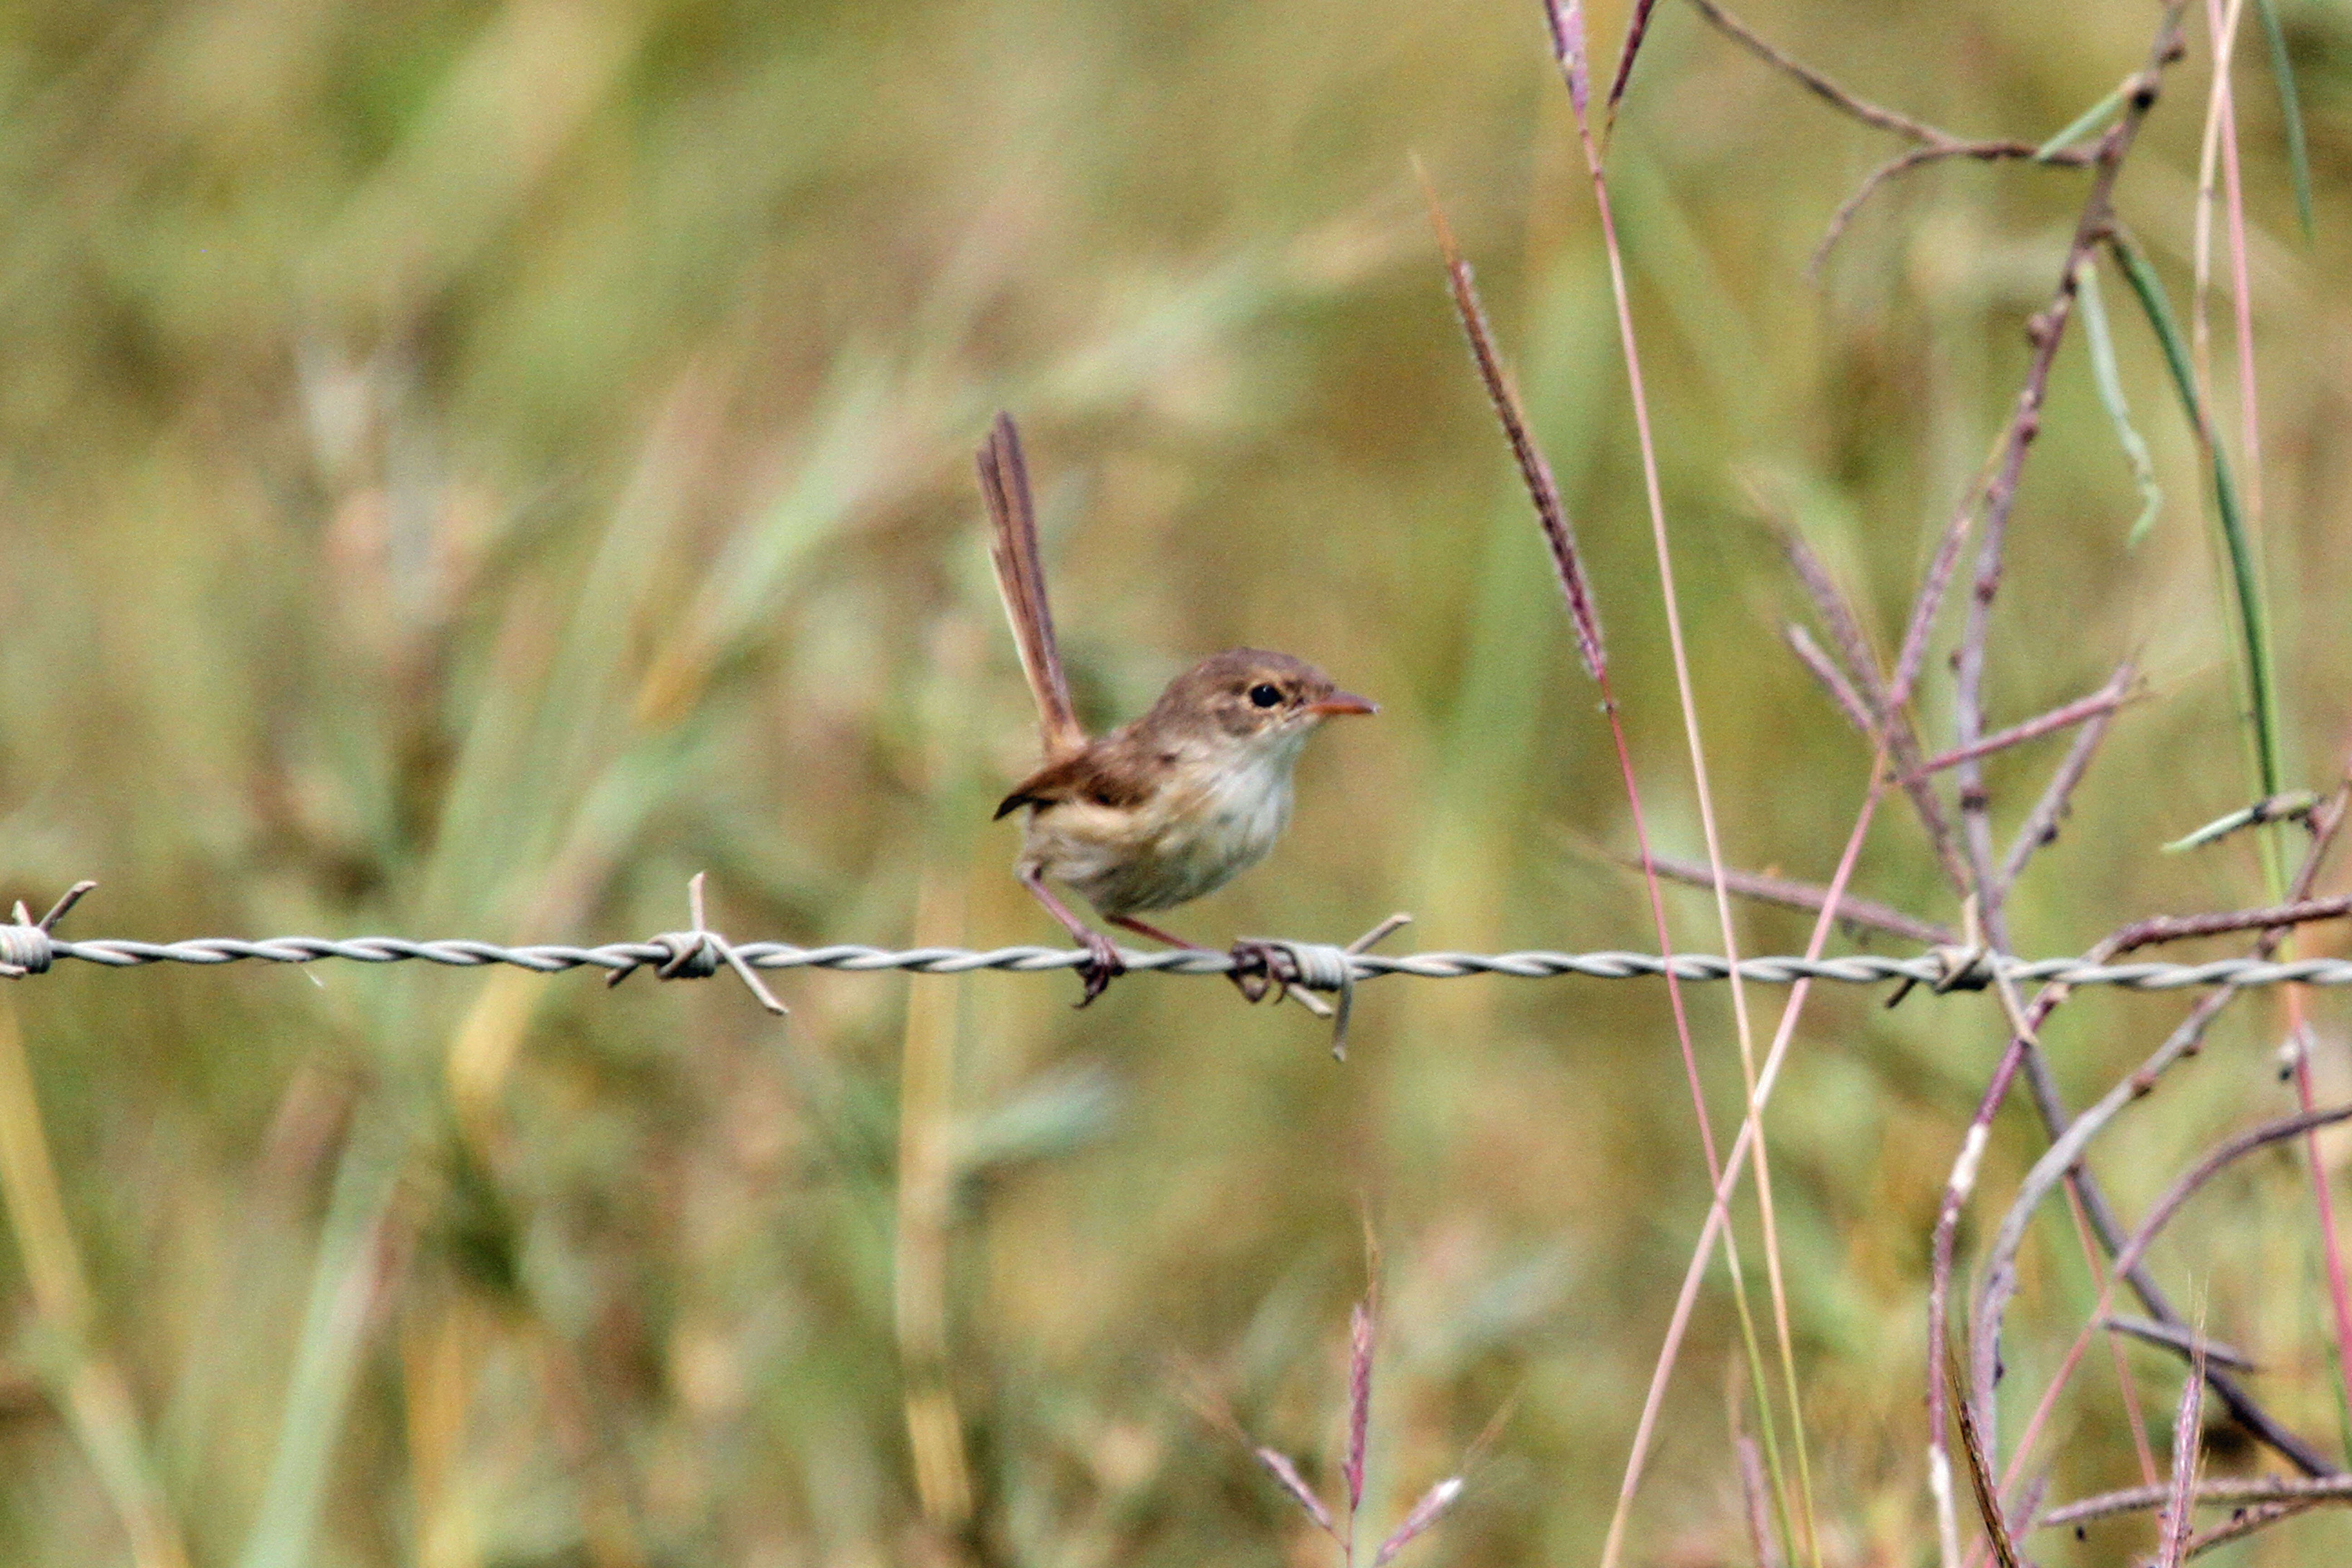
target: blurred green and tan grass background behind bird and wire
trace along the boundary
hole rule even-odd
[[[2291,783],[2326,788],[2352,670],[2352,12],[2279,9],[2317,233],[2249,19],[2258,480]],[[1858,92],[2027,141],[2154,26],[2025,0],[1745,14]],[[1604,59],[1621,24],[1595,16]],[[2194,33],[2122,186],[2183,303],[2209,59]],[[1811,879],[1870,757],[1778,642],[1799,597],[1750,494],[1889,644],[2084,179],[1907,176],[1811,282],[1891,150],[1675,5],[1611,146],[1726,849]],[[1237,642],[1383,703],[1312,748],[1277,856],[1174,924],[1345,940],[1404,907],[1428,947],[1649,945],[1639,884],[1581,853],[1630,844],[1625,797],[1409,153],[1578,517],[1651,827],[1698,853],[1534,0],[19,0],[0,884],[40,907],[96,877],[85,936],[604,940],[682,926],[708,870],[739,938],[1047,940],[988,825],[1033,752],[969,470],[1011,407],[1096,719]],[[2249,785],[2197,449],[2107,299],[2164,510],[2126,548],[2140,494],[2070,343],[1992,708],[2039,712],[2126,654],[2154,701],[2027,875],[2025,952],[2265,898],[2244,839],[2154,853]],[[1933,665],[1931,743],[1947,696]],[[1992,766],[1997,823],[2058,745]],[[1858,889],[1957,924],[1893,806]],[[1670,900],[1677,943],[1712,950],[1710,905]],[[1755,952],[1802,940],[1743,912]],[[1588,1559],[1705,1211],[1656,987],[1383,980],[1336,1067],[1298,1009],[1202,980],[1087,1013],[1068,976],[776,985],[788,1027],[731,980],[644,976],[66,966],[0,992],[0,1561],[1322,1561],[1181,1387],[1329,1481],[1364,1215],[1388,1335],[1367,1516],[1515,1399],[1411,1552]],[[2345,1004],[2312,1006],[2340,1095]],[[2046,1037],[2067,1091],[2180,1009],[2077,1001]],[[1729,1128],[1726,999],[1693,992],[1693,1018]],[[2126,1213],[2286,1105],[2277,1030],[2249,1004],[2100,1145]],[[1926,1232],[1999,1044],[1983,997],[1818,994],[1771,1112],[1830,1563],[1931,1549]],[[2009,1117],[1992,1192],[2042,1147]],[[2159,1269],[2336,1443],[2307,1180],[2253,1161],[2201,1204]],[[2009,1340],[2037,1373],[2063,1333],[2034,1326],[2093,1293],[2063,1213],[2044,1225]],[[1710,1293],[1644,1561],[1748,1561],[1733,1345]],[[2161,1427],[2178,1366],[2129,1368]],[[2138,1476],[2112,1378],[2100,1359],[2072,1396],[2056,1495]],[[2296,1528],[2260,1561],[2345,1544]]]

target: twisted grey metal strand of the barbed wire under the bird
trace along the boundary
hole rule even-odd
[[[24,931],[16,926],[14,931]],[[1298,943],[1322,954],[1322,943]],[[868,947],[858,943],[833,943],[826,947],[795,947],[790,943],[734,943],[734,954],[753,969],[837,969],[847,973],[908,971],[922,976],[960,976],[981,969],[1011,973],[1037,973],[1051,969],[1077,969],[1087,964],[1082,947]],[[1726,980],[1731,964],[1712,952],[1677,952],[1661,959],[1653,952],[1348,952],[1331,947],[1338,964],[1352,980],[1376,980],[1381,976],[1414,976],[1421,980],[1461,980],[1468,976],[1512,976],[1522,980],[1550,980],[1581,976],[1588,980],[1637,980],[1668,973],[1677,980]],[[35,954],[14,954],[19,959]],[[315,964],[322,959],[348,959],[355,964],[447,964],[454,969],[480,969],[487,964],[513,964],[536,973],[562,973],[569,969],[602,969],[628,973],[640,966],[661,966],[677,957],[675,938],[647,943],[607,943],[602,947],[574,947],[560,943],[536,943],[506,947],[468,938],[412,940],[400,936],[278,936],[245,940],[230,936],[205,936],[181,943],[134,943],[118,938],[66,940],[49,938],[49,959],[80,959],[103,969],[136,969],[143,964]],[[1150,969],[1174,976],[1225,976],[1237,959],[1230,952],[1122,950],[1129,969]],[[47,964],[28,966],[47,969]],[[1907,980],[1943,990],[1978,990],[1994,973],[2020,985],[2063,980],[2065,985],[2117,985],[2124,990],[2194,990],[2209,985],[2352,985],[2352,959],[2211,959],[2204,964],[2091,964],[2084,959],[2018,959],[2009,954],[1955,954],[1950,950],[1917,957],[1851,954],[1832,959],[1802,957],[1752,957],[1740,959],[1738,973],[1757,985],[1792,985],[1797,980],[1830,980],[1842,985],[1882,985]]]

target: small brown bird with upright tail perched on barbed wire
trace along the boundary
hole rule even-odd
[[[1169,682],[1141,719],[1089,741],[1061,672],[1028,468],[1007,414],[981,447],[981,491],[995,520],[988,555],[1044,741],[1044,766],[997,816],[1028,806],[1014,875],[1091,954],[1087,1006],[1127,966],[1047,877],[1077,889],[1112,926],[1192,947],[1136,914],[1211,893],[1263,860],[1291,816],[1291,764],[1305,738],[1334,715],[1378,710],[1289,654],[1232,649]]]

